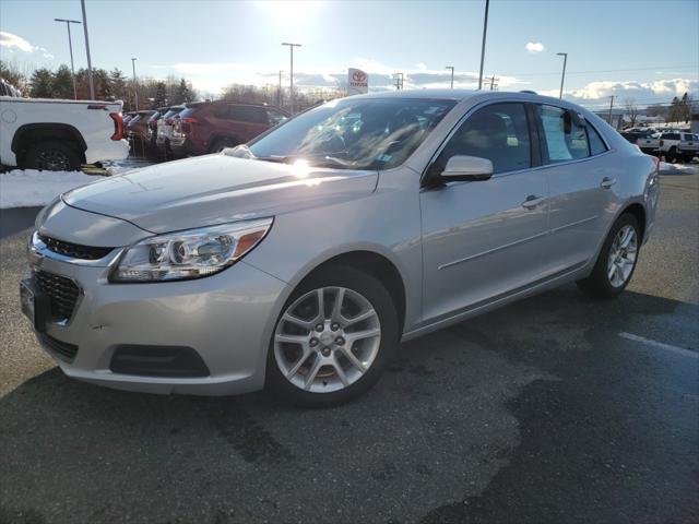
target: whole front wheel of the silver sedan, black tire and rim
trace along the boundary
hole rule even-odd
[[[322,321],[318,308],[320,289],[324,305]],[[343,297],[343,314],[335,315],[339,296]],[[286,320],[289,315],[295,320]],[[362,317],[367,318],[355,320]],[[300,325],[299,320],[306,325]],[[335,320],[341,324],[333,325]],[[319,322],[322,332],[318,331]],[[378,335],[367,335],[377,330]],[[366,336],[352,341],[358,333]],[[308,342],[289,343],[288,336]],[[284,305],[270,341],[266,386],[281,398],[303,407],[343,404],[376,384],[398,342],[396,308],[383,285],[354,267],[323,267],[301,282]],[[354,359],[348,358],[347,352]]]

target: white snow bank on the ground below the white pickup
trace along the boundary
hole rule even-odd
[[[0,174],[0,209],[43,206],[70,189],[97,180],[103,177],[80,171],[15,169]]]

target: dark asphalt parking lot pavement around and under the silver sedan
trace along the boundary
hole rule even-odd
[[[576,286],[403,344],[301,410],[69,380],[19,309],[2,214],[0,522],[699,522],[699,175],[662,178],[629,289]]]

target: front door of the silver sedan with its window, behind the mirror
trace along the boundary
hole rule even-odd
[[[424,320],[477,307],[541,277],[548,189],[537,151],[521,103],[477,109],[447,141],[430,168],[469,155],[490,159],[494,175],[420,193]]]

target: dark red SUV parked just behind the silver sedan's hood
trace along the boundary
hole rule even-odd
[[[287,118],[269,106],[226,100],[187,104],[175,121],[170,147],[178,156],[216,153],[249,142]]]

